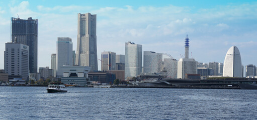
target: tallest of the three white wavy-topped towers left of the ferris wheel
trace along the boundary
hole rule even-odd
[[[142,45],[134,42],[125,43],[125,79],[137,76],[142,71]]]

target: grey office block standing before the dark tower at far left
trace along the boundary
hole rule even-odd
[[[29,76],[29,46],[17,43],[6,43],[5,70],[8,75],[21,75],[22,79]]]

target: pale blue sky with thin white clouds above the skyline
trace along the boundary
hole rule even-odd
[[[257,65],[257,2],[254,0],[1,0],[0,69],[5,43],[11,41],[11,17],[38,19],[38,67],[51,66],[57,37],[77,45],[77,13],[97,14],[97,50],[125,54],[125,42],[143,51],[179,59],[190,38],[189,56],[198,62],[224,62],[238,47],[242,64]],[[98,61],[99,70],[101,63]]]

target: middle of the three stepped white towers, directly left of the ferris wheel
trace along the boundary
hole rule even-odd
[[[154,63],[153,63],[154,62]],[[144,51],[144,73],[159,71],[162,63],[162,54],[154,51]]]

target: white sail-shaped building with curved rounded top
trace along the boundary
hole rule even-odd
[[[236,46],[231,46],[226,53],[223,76],[242,77],[241,55]]]

